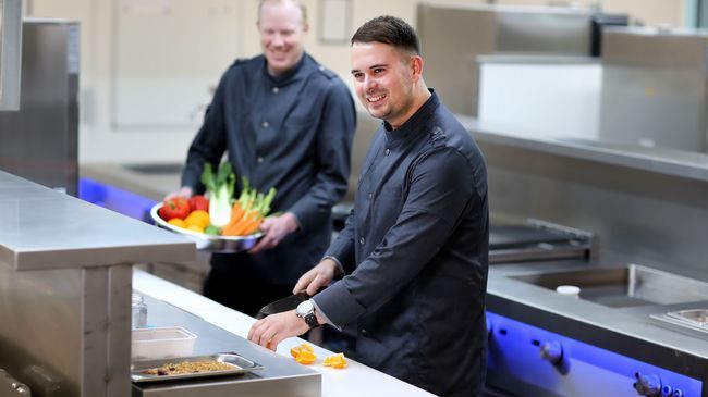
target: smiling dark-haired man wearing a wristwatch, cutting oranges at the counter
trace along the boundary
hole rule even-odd
[[[356,322],[361,362],[437,395],[474,396],[486,368],[486,166],[422,73],[405,22],[381,16],[354,34],[354,86],[383,123],[346,227],[294,290],[314,295],[345,275],[248,338],[274,348],[318,324]]]

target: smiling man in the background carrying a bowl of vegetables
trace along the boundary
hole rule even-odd
[[[236,60],[223,74],[190,147],[180,193],[204,191],[205,162],[224,151],[236,193],[278,190],[265,237],[249,251],[212,255],[204,295],[247,314],[290,295],[331,239],[331,208],[346,193],[356,114],[344,83],[317,63],[303,42],[306,10],[294,0],[258,9],[263,54]]]

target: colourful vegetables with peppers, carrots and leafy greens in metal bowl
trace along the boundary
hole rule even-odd
[[[244,177],[243,189],[234,200],[236,176],[229,162],[221,163],[216,173],[206,163],[200,181],[208,199],[202,195],[166,199],[158,215],[171,225],[208,235],[247,236],[258,232],[270,213],[276,188],[271,187],[268,194],[259,193]]]

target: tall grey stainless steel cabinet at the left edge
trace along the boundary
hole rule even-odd
[[[20,110],[0,111],[0,170],[75,196],[78,24],[25,20],[22,60]]]

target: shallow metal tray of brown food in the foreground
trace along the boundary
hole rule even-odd
[[[184,373],[184,374],[175,374],[175,375],[152,375],[152,374],[143,373],[143,371],[145,370],[160,368],[162,365],[170,364],[170,363],[194,362],[194,361],[224,362],[233,365],[233,370]],[[222,352],[222,353],[207,355],[207,356],[172,357],[169,359],[161,359],[161,360],[133,361],[131,363],[131,380],[134,383],[181,381],[181,380],[191,380],[191,379],[199,379],[199,377],[237,375],[246,372],[252,372],[255,370],[263,370],[263,367],[234,352]]]

